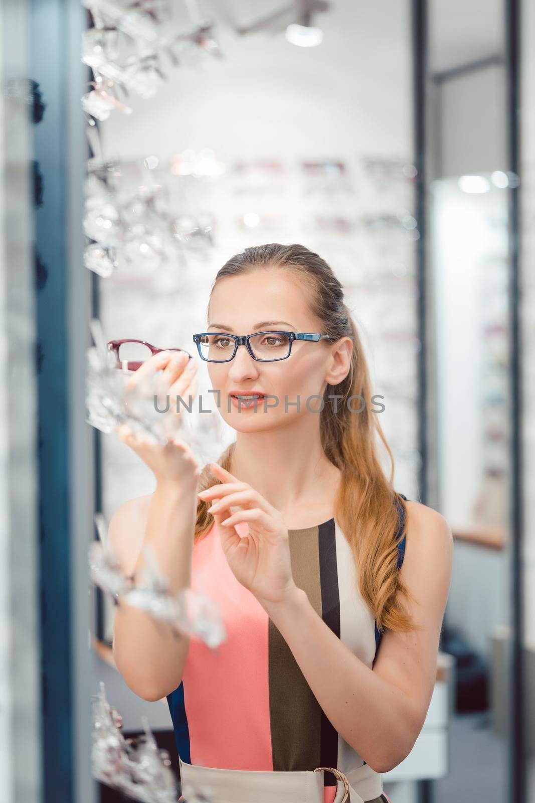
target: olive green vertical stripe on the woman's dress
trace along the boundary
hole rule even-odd
[[[318,527],[290,530],[295,584],[322,615]],[[275,772],[302,772],[321,766],[321,714],[290,647],[269,620],[270,726]]]

